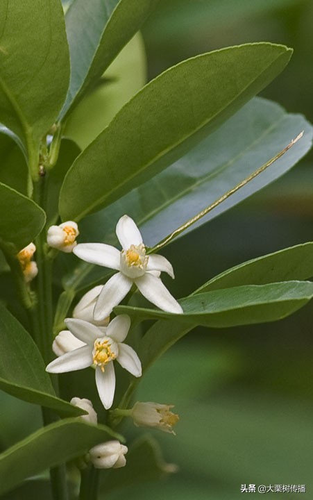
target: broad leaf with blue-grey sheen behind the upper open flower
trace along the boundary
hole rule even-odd
[[[103,242],[118,245],[115,226],[119,217],[128,214],[142,231],[144,242],[153,246],[255,172],[301,130],[305,131],[303,138],[280,160],[200,219],[197,225],[216,217],[284,174],[310,148],[312,126],[301,115],[287,114],[278,104],[256,97],[174,165],[84,219],[80,225],[81,238],[99,241],[100,229]],[[65,278],[65,285],[73,276],[71,273]],[[105,276],[108,276],[108,269],[80,263],[74,278],[75,287],[86,288]],[[310,276],[291,276],[289,279],[303,278]],[[278,277],[273,281],[282,279]],[[232,286],[237,284],[248,283],[232,283]]]

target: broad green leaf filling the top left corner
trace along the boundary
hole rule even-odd
[[[37,144],[67,94],[69,53],[59,0],[0,3],[0,120]]]

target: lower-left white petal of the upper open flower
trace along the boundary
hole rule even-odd
[[[112,309],[128,294],[132,285],[133,281],[127,278],[127,276],[124,276],[124,274],[120,272],[114,274],[114,276],[105,283],[99,295],[99,299],[96,301],[94,319],[100,321],[110,315]]]

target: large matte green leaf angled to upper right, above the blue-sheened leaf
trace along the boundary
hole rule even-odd
[[[260,92],[290,56],[281,45],[246,44],[155,78],[74,162],[60,193],[62,219],[81,219],[171,165]]]

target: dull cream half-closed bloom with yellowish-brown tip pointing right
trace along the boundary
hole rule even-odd
[[[171,408],[174,408],[174,405],[137,401],[131,416],[136,426],[156,427],[160,431],[175,435],[172,427],[177,424],[179,417],[171,412]]]

